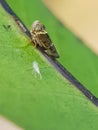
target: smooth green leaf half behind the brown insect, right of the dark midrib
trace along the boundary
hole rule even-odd
[[[36,19],[42,21],[51,35],[62,63],[84,86],[98,97],[98,56],[64,28],[40,0],[7,0],[16,14],[30,28]]]

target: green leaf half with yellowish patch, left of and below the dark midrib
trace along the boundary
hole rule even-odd
[[[29,42],[0,6],[0,113],[26,130],[97,130],[97,107]]]

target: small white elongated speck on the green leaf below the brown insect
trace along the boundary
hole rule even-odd
[[[35,77],[39,76],[39,78],[42,79],[42,75],[41,75],[38,63],[36,61],[32,63],[32,69],[33,69],[33,72],[35,73]]]

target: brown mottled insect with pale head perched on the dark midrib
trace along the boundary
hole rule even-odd
[[[49,56],[59,58],[56,48],[45,30],[45,26],[40,21],[36,20],[32,24],[30,33],[35,46],[39,45]]]

